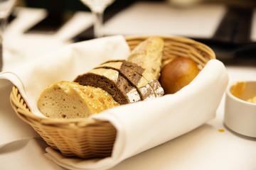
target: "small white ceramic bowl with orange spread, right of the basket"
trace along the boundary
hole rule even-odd
[[[256,137],[256,103],[247,100],[256,96],[256,81],[244,81],[245,91],[241,95],[234,96],[230,89],[234,84],[228,86],[225,96],[225,125],[248,137]]]

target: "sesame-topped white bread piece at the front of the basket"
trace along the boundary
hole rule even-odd
[[[119,103],[107,91],[70,81],[48,86],[38,98],[38,109],[48,118],[87,118],[114,106]]]

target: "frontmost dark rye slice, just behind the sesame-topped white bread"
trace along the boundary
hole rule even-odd
[[[95,86],[107,91],[121,105],[142,100],[137,89],[114,69],[92,69],[79,75],[74,81],[83,86]]]

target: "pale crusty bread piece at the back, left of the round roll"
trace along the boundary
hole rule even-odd
[[[158,36],[151,36],[140,42],[132,50],[127,61],[134,62],[144,69],[148,69],[156,79],[161,72],[161,60],[163,58],[164,40]]]

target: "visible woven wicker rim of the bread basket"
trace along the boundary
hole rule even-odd
[[[210,47],[207,45],[204,45],[201,42],[197,42],[196,40],[192,40],[190,38],[184,38],[184,37],[178,37],[173,35],[127,35],[124,36],[125,40],[136,40],[136,39],[146,39],[149,38],[149,36],[159,36],[161,38],[165,39],[171,39],[171,40],[177,40],[178,42],[186,42],[191,44],[197,44],[203,47],[205,50],[208,50],[208,52],[211,54],[211,59],[215,59],[215,53],[213,52]],[[44,118],[40,117],[38,115],[34,115],[31,113],[30,109],[26,105],[26,102],[23,100],[21,94],[19,94],[18,89],[16,86],[13,87],[11,91],[11,106],[16,109],[16,113],[18,117],[20,117],[22,120],[26,121],[27,123],[41,123],[42,125],[48,125],[48,126],[58,126],[61,128],[81,128],[81,127],[87,127],[87,126],[95,126],[99,123],[109,123],[105,120],[97,120],[94,118],[74,118],[74,119],[51,119],[51,118]]]

